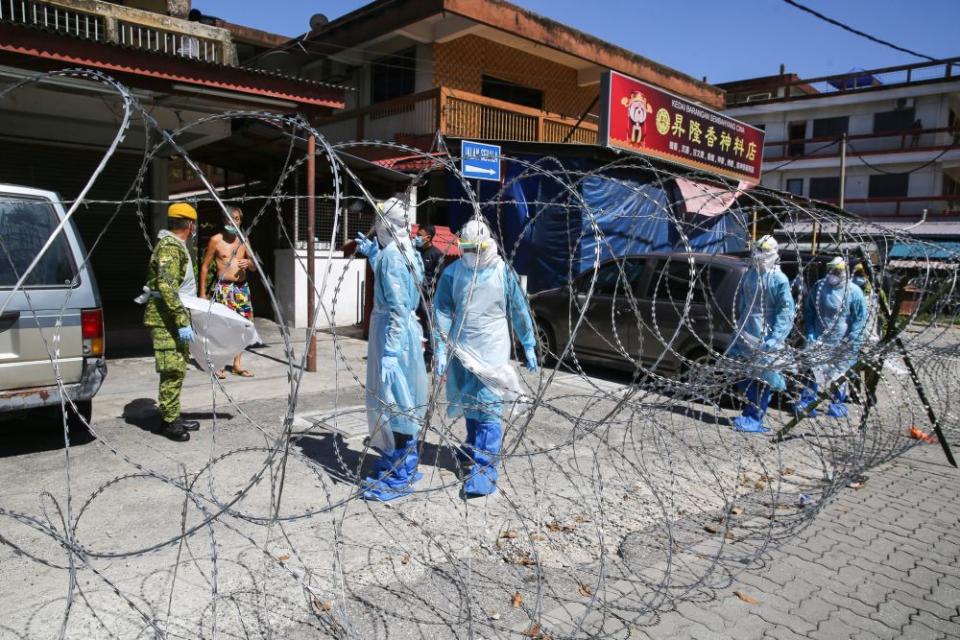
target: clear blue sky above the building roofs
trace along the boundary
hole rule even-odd
[[[920,53],[960,55],[960,0],[801,0],[841,22]],[[780,0],[514,0],[710,82],[777,73],[802,77],[907,64],[918,58],[842,31]],[[204,13],[296,36],[310,16],[331,20],[359,0],[193,0]],[[584,9],[588,9],[584,11]]]

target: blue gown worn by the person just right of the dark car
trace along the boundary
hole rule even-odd
[[[751,267],[740,280],[736,304],[737,333],[727,355],[754,365],[769,360],[771,351],[783,348],[793,327],[796,306],[790,281],[779,267],[762,273]],[[760,378],[774,391],[787,388],[779,371],[765,370]]]

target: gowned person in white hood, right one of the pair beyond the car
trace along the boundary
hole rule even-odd
[[[807,349],[816,363],[812,367],[813,381],[794,405],[797,412],[805,411],[816,399],[821,385],[831,384],[856,364],[866,333],[869,314],[863,290],[845,277],[842,261],[830,266],[830,275],[813,286],[804,305]],[[827,409],[831,417],[847,415],[845,387],[841,385],[834,393]]]

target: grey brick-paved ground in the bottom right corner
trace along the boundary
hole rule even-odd
[[[679,604],[645,637],[960,638],[960,471],[939,446],[915,448],[843,489],[766,566],[712,602]]]

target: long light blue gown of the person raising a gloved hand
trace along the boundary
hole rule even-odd
[[[367,423],[370,444],[394,448],[392,432],[416,436],[427,404],[423,331],[417,319],[423,263],[407,243],[391,243],[371,259],[375,275],[373,313],[367,343]],[[392,385],[381,381],[383,356],[394,356],[402,375]]]

